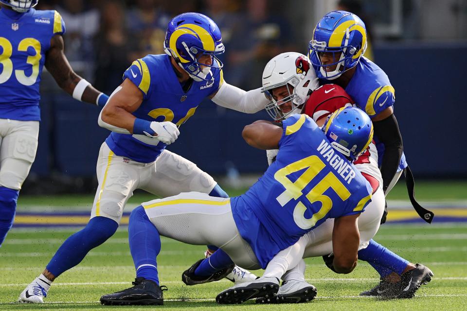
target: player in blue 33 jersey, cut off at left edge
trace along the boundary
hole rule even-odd
[[[0,0],[0,246],[13,225],[18,193],[36,157],[39,83],[44,66],[73,98],[103,106],[108,96],[70,67],[65,23],[37,0]]]

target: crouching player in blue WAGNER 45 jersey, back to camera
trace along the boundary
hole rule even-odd
[[[370,118],[358,108],[347,107],[335,112],[323,128],[305,115],[294,115],[281,126],[255,121],[244,128],[242,135],[248,144],[259,149],[280,147],[276,161],[266,173],[238,197],[217,198],[188,192],[134,209],[128,234],[136,268],[135,286],[104,295],[101,303],[163,304],[156,259],[161,250],[160,236],[218,246],[215,254],[222,253],[223,258],[203,261],[213,272],[216,266],[226,263],[258,269],[265,268],[279,251],[326,219],[335,218],[332,265],[340,273],[350,273],[355,268],[359,248],[357,220],[371,201],[372,190],[349,159],[364,151],[372,140]],[[353,148],[347,149],[343,141]],[[192,268],[184,273],[185,278],[194,276],[197,267]],[[216,301],[241,303],[259,295],[272,295],[278,288],[278,281],[253,283],[242,287],[242,291],[229,289],[219,294]]]

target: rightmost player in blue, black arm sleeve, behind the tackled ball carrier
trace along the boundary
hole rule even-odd
[[[387,194],[399,179],[406,174],[409,197],[417,213],[428,223],[434,214],[421,207],[413,197],[413,176],[402,148],[402,137],[394,115],[395,90],[386,73],[375,63],[363,56],[367,46],[367,35],[363,21],[350,12],[334,11],[326,14],[316,25],[309,43],[309,58],[321,84],[332,82],[345,89],[356,104],[372,119],[375,126],[378,159],[383,179],[383,190]],[[386,221],[386,213],[381,223]],[[372,240],[371,243],[376,243]],[[372,249],[370,243],[369,249]],[[375,246],[372,257],[393,257]],[[406,263],[399,261],[398,266]],[[384,296],[388,289],[397,292],[400,273],[397,274],[377,263],[372,266],[381,276],[381,282],[362,295]],[[417,267],[422,273],[422,268]]]

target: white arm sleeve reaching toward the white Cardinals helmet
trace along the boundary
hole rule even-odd
[[[258,112],[269,104],[261,88],[244,91],[226,82],[222,83],[212,101],[219,106],[245,113]]]

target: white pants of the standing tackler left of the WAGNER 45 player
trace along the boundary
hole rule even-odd
[[[96,173],[99,186],[91,218],[103,216],[117,223],[135,189],[167,197],[188,191],[210,193],[216,186],[208,173],[168,150],[154,162],[140,163],[115,155],[105,142],[99,151]]]

